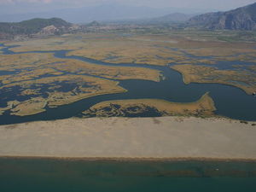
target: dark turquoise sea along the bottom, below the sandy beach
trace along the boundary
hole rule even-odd
[[[250,192],[256,163],[0,159],[1,192]]]

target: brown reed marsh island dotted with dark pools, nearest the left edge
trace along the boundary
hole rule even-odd
[[[67,90],[66,92],[61,90],[57,91],[58,88],[60,88],[60,84],[75,84],[75,86],[73,89]],[[22,90],[20,91],[20,96],[29,96],[29,99],[24,102],[11,101],[11,103],[8,103],[7,108],[0,108],[2,113],[10,109],[11,114],[14,115],[32,115],[44,112],[46,105],[48,105],[49,108],[55,108],[57,106],[77,102],[90,96],[126,91],[118,85],[118,82],[84,75],[63,75],[22,81],[22,83],[5,85],[2,89],[15,86],[20,86],[20,90]],[[38,87],[38,90],[32,90],[34,86]],[[40,91],[44,86],[49,86],[46,93]],[[46,94],[47,96],[42,97],[42,94]]]

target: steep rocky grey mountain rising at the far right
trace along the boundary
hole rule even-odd
[[[256,30],[256,3],[238,9],[198,15],[189,26],[206,29]]]

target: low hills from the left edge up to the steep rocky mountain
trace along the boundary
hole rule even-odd
[[[71,32],[88,32],[93,28],[108,28],[126,25],[129,27],[134,24],[139,25],[166,25],[189,20],[189,15],[171,14],[162,17],[155,17],[152,19],[141,20],[119,20],[112,22],[97,22],[96,20],[86,24],[73,24],[62,20],[60,18],[42,19],[36,18],[32,20],[24,20],[20,22],[0,22],[0,39],[14,39],[14,38],[29,38],[36,36],[58,35]]]

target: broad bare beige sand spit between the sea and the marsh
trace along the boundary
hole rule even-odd
[[[256,126],[229,119],[63,119],[0,126],[0,156],[256,160]]]

